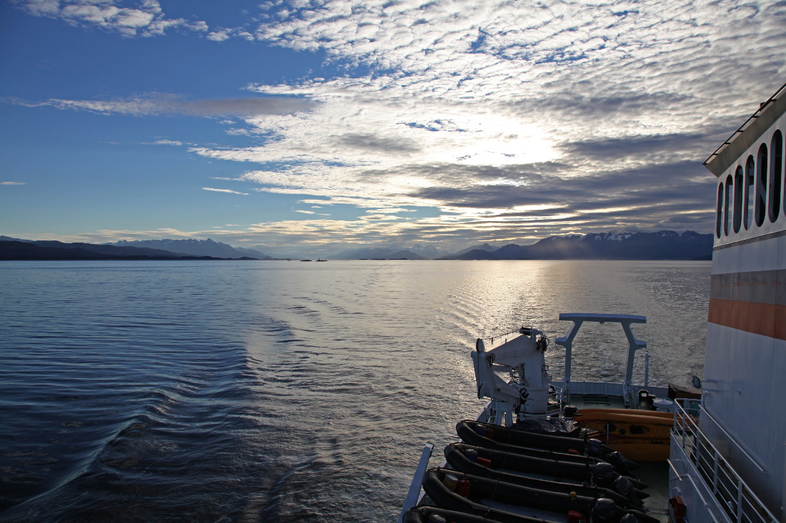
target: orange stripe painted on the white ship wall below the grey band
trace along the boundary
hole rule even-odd
[[[707,321],[752,334],[786,340],[786,305],[710,298]]]

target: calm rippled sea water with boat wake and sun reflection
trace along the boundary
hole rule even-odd
[[[424,442],[483,406],[476,337],[642,314],[651,382],[687,384],[709,281],[709,262],[0,262],[0,520],[393,521]],[[586,327],[574,379],[621,378],[622,330]]]

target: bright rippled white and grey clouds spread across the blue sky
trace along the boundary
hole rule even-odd
[[[261,191],[375,210],[245,232],[282,244],[323,234],[505,241],[708,229],[713,180],[700,162],[786,72],[786,5],[773,1],[263,2],[247,23],[210,31],[208,22],[168,19],[152,0],[19,3],[123,35],[177,26],[219,42],[320,51],[325,69],[349,71],[257,83],[249,89],[258,98],[38,102],[233,116],[242,125],[229,123],[227,134],[252,137],[250,145],[189,142],[189,152],[258,163],[241,179]],[[395,216],[412,207],[439,215]]]

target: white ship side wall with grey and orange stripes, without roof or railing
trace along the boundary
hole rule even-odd
[[[784,130],[786,113],[718,177],[718,186],[725,184],[752,157],[757,162],[752,187],[766,188],[763,201],[772,208],[757,223],[756,194],[747,210],[750,219],[741,220],[749,226],[737,232],[721,228],[715,238],[703,384],[712,419],[701,419],[719,452],[781,521],[786,502],[786,155],[781,153],[780,167],[769,155],[764,183],[758,179],[758,161],[762,147],[784,150],[782,141],[776,143]],[[780,177],[773,181],[772,174]],[[775,190],[780,196],[770,194]],[[736,212],[746,214],[744,207]],[[733,223],[731,218],[722,216]]]

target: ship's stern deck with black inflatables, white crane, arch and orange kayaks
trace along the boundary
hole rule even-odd
[[[660,521],[644,507],[648,485],[634,475],[637,463],[619,452],[641,450],[645,461],[665,459],[654,451],[668,452],[674,424],[670,412],[652,410],[652,392],[665,397],[665,389],[645,390],[631,382],[634,353],[646,344],[634,337],[630,324],[645,318],[570,314],[560,319],[574,322],[571,332],[556,340],[566,348],[561,382],[549,375],[549,340],[541,331],[521,327],[477,340],[472,360],[478,397],[491,401],[477,420],[458,422],[461,441],[445,447],[442,466],[427,470],[431,451],[424,451],[401,520]],[[571,342],[586,321],[622,325],[629,342],[623,383],[571,382]]]

